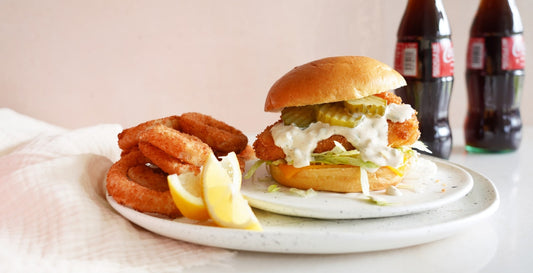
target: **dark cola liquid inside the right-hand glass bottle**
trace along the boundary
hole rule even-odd
[[[485,69],[467,69],[468,111],[466,149],[470,152],[506,152],[522,140],[520,97],[523,70],[501,69],[501,37],[486,37]]]

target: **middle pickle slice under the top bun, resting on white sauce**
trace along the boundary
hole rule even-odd
[[[326,103],[318,107],[316,119],[330,125],[353,128],[359,123],[361,115],[353,115],[346,111],[342,102]]]

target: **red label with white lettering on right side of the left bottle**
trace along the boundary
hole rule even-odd
[[[431,52],[433,55],[433,78],[453,76],[455,61],[452,41],[449,39],[443,39],[436,43],[431,43]]]

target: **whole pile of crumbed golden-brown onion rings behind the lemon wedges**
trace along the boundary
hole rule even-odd
[[[107,173],[107,192],[119,204],[175,218],[177,209],[166,177],[199,174],[210,153],[235,152],[241,170],[255,157],[248,138],[234,127],[200,113],[141,123],[118,134],[120,159]]]

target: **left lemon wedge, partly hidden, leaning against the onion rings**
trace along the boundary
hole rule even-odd
[[[183,216],[193,220],[207,220],[209,213],[202,198],[202,176],[184,173],[167,177],[172,200]]]

